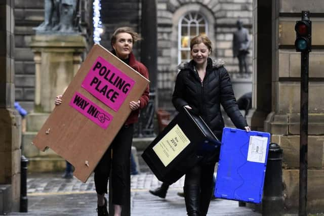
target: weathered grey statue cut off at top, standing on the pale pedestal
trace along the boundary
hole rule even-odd
[[[79,0],[45,0],[44,22],[37,33],[75,33],[78,31]]]

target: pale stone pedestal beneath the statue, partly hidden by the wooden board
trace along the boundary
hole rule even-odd
[[[82,35],[42,34],[32,37],[30,47],[35,61],[35,104],[34,112],[26,117],[23,154],[29,159],[28,170],[60,170],[64,160],[51,150],[40,152],[31,140],[54,109],[55,97],[63,94],[80,67],[87,42]]]

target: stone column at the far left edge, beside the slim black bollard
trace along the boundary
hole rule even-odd
[[[15,111],[14,0],[0,1],[0,214],[19,211],[21,118]]]

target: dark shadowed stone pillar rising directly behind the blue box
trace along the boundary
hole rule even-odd
[[[271,112],[272,25],[271,1],[256,0],[253,5],[253,106],[247,116],[252,129],[264,130],[264,120]]]

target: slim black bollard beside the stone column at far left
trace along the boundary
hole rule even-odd
[[[20,212],[28,212],[27,197],[27,164],[28,159],[21,155],[20,158]]]

